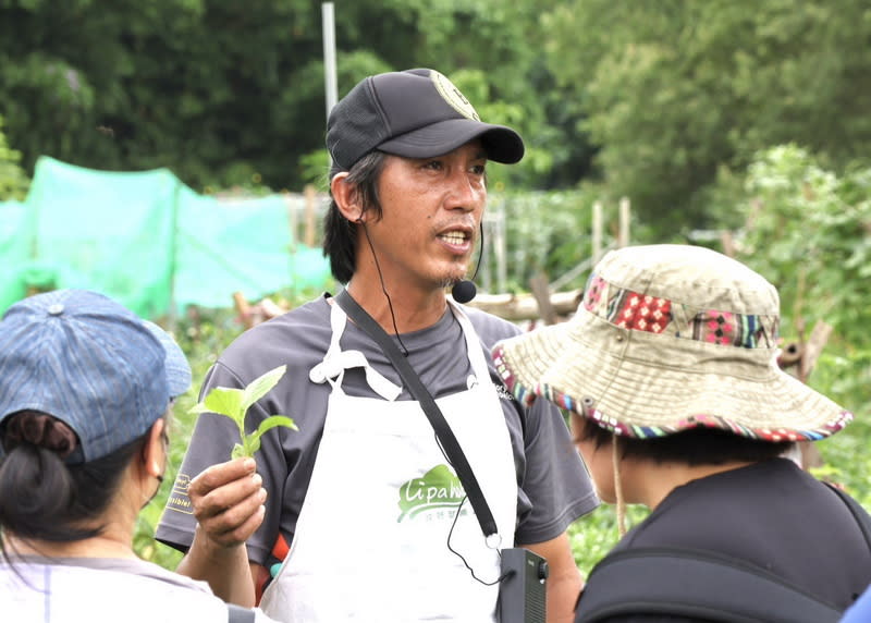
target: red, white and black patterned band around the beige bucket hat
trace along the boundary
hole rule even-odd
[[[777,344],[777,315],[698,309],[618,288],[598,274],[591,276],[587,283],[582,306],[608,322],[630,331],[666,333],[744,349],[773,349]]]

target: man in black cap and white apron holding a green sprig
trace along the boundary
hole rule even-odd
[[[517,543],[548,560],[549,621],[571,621],[581,581],[565,529],[596,496],[560,412],[524,408],[495,372],[487,347],[518,329],[456,304],[469,285],[445,292],[470,264],[487,162],[517,162],[522,138],[420,69],[360,82],[330,114],[327,146],[333,276],[437,399],[495,538],[420,403],[329,296],[246,332],[210,370],[204,391],[286,364],[247,427],[284,414],[299,430],[266,435],[254,475],[253,461],[222,463],[234,426],[204,414],[158,538],[189,548],[180,571],[243,604],[271,575],[262,607],[294,622],[494,621],[499,551]]]

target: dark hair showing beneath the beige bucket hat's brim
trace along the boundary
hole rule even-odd
[[[596,448],[612,442],[610,430],[587,418],[576,441],[592,441]],[[576,420],[577,422],[577,420]],[[759,462],[775,459],[786,452],[792,442],[765,441],[735,435],[722,428],[697,427],[650,439],[619,437],[621,454],[650,459],[657,463],[684,463],[695,465],[722,465],[733,461]]]

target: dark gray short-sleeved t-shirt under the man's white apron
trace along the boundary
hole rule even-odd
[[[490,346],[517,334],[519,329],[478,309],[464,309],[487,353],[511,435],[519,490],[516,542],[549,540],[592,511],[598,499],[560,411],[547,401],[536,401],[528,410],[522,407],[499,379],[489,356]],[[319,297],[243,333],[209,370],[203,386],[203,395],[213,387],[241,388],[272,368],[287,366],[279,384],[250,408],[247,419],[247,429],[252,430],[269,415],[286,415],[299,428],[270,430],[262,437],[256,456],[269,497],[263,523],[248,540],[248,558],[267,567],[277,562],[272,553],[277,537],[283,537],[285,543],[293,538],[311,477],[331,388],[329,383],[311,382],[308,372],[322,361],[331,334],[330,304],[326,296]],[[471,366],[463,330],[450,309],[436,325],[404,333],[401,340],[408,351],[408,362],[434,398],[466,389]],[[403,384],[378,344],[354,323],[347,323],[341,345],[343,350],[363,352],[375,369],[397,386]],[[348,395],[377,398],[361,369],[347,370],[342,387]],[[412,396],[404,389],[398,400]],[[158,526],[160,541],[182,550],[191,545],[196,520],[186,494],[187,484],[209,465],[228,461],[237,441],[238,431],[229,418],[208,413],[199,417]],[[278,558],[281,550],[279,546]]]

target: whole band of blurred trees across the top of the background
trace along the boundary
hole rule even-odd
[[[836,171],[867,158],[864,0],[334,4],[340,95],[436,66],[526,136],[527,158],[496,180],[601,179],[661,232],[728,218],[710,185],[760,149],[796,143]],[[0,114],[28,171],[48,154],[165,166],[199,190],[299,190],[327,166],[322,54],[308,0],[8,0]]]

